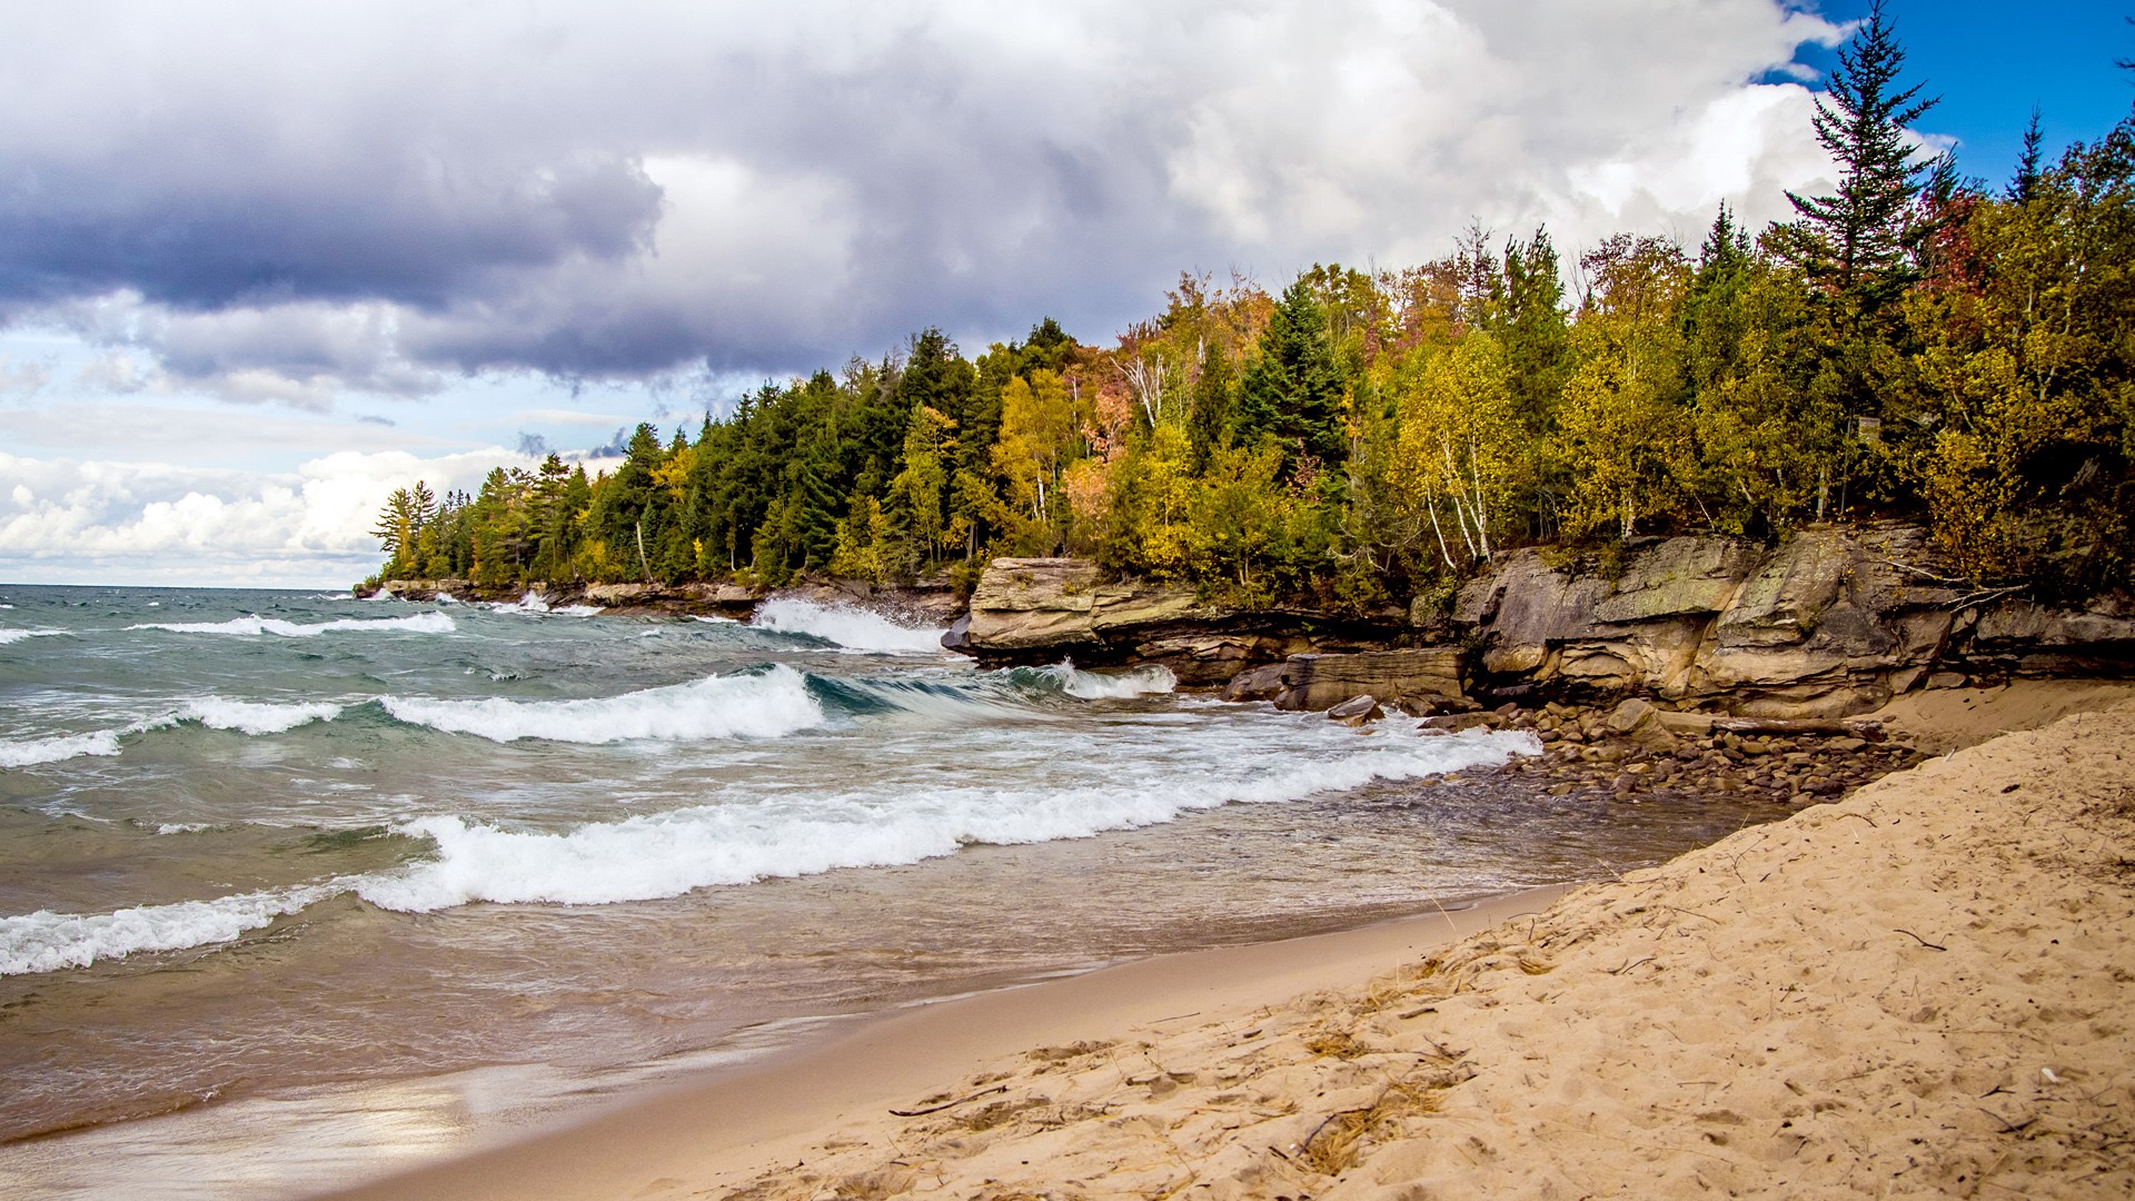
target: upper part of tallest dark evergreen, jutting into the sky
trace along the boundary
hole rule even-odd
[[[1800,218],[1774,231],[1774,250],[1862,310],[1879,308],[1909,282],[1907,218],[1926,167],[1907,145],[1907,126],[1936,98],[1917,100],[1919,83],[1900,90],[1902,68],[1904,47],[1877,0],[1840,47],[1832,90],[1817,96],[1817,141],[1838,162],[1838,190],[1787,192]]]

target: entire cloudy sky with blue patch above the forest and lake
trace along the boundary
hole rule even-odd
[[[922,327],[1783,218],[1866,2],[777,9],[0,0],[0,581],[346,588],[393,487]],[[1887,11],[1992,184],[2135,100],[2135,0]]]

